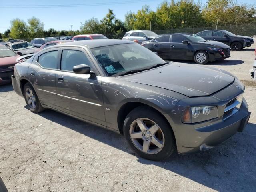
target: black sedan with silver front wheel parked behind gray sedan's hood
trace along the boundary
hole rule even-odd
[[[206,64],[230,57],[230,47],[216,41],[206,41],[196,35],[166,34],[142,42],[142,46],[157,52],[165,60],[194,60],[197,64]]]

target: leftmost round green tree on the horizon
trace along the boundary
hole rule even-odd
[[[23,20],[17,18],[10,21],[11,33],[9,34],[12,38],[29,38],[28,25]]]

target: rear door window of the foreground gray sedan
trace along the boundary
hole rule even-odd
[[[44,68],[58,68],[58,51],[46,52],[38,57],[38,63]]]

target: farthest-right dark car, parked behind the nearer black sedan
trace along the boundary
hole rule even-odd
[[[248,36],[235,35],[226,30],[205,30],[196,34],[205,40],[220,41],[230,46],[231,50],[239,51],[245,47],[250,47],[254,40]]]

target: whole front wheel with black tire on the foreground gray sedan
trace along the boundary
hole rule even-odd
[[[148,106],[137,107],[126,116],[124,136],[132,150],[145,159],[163,160],[176,149],[170,124]]]

